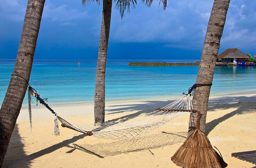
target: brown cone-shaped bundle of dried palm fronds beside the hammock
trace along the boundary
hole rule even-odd
[[[191,133],[183,145],[172,156],[172,162],[183,168],[224,168],[228,164],[224,162],[211,142],[199,129],[200,112],[197,114],[196,129]]]

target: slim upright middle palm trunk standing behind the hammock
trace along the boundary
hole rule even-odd
[[[111,20],[112,0],[103,0],[102,21],[100,29],[100,44],[96,72],[94,94],[94,122],[105,120],[105,71],[108,51],[108,37]]]

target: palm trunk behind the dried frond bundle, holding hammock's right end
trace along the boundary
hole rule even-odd
[[[230,0],[214,0],[212,12],[208,23],[204,47],[200,59],[200,65],[197,73],[196,84],[212,83],[214,68],[220,48],[220,38],[226,21]],[[193,97],[194,109],[201,112],[200,130],[204,131],[206,122],[206,113],[210,95],[209,86],[198,87],[195,89]],[[195,129],[196,114],[190,115],[188,134]]]

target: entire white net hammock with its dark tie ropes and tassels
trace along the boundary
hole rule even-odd
[[[12,74],[14,76],[21,77],[19,75]],[[21,77],[24,79],[23,77]],[[27,83],[28,81],[24,79]],[[193,109],[192,101],[190,99],[191,92],[195,90],[196,87],[201,86],[212,86],[212,84],[195,84],[191,88],[189,88],[188,94],[184,94],[185,96],[180,99],[166,105],[163,108],[157,108],[156,111],[152,111],[146,114],[139,115],[137,117],[132,118],[123,118],[117,121],[108,121],[104,123],[97,124],[86,124],[75,126],[65,120],[64,118],[57,115],[45,101],[47,99],[42,99],[40,94],[36,92],[34,88],[32,88],[28,84],[28,100],[29,100],[29,116],[30,116],[30,126],[32,129],[32,120],[31,120],[31,105],[32,101],[31,95],[36,97],[36,100],[43,104],[48,110],[50,110],[56,118],[54,119],[54,134],[59,135],[59,125],[57,119],[61,122],[62,127],[67,127],[69,129],[87,134],[88,136],[95,136],[98,138],[104,139],[114,139],[114,140],[127,140],[133,139],[136,137],[140,137],[146,133],[149,133],[156,129],[159,126],[164,125],[168,121],[172,120],[175,117],[179,117],[187,112],[198,112]],[[90,131],[85,131],[90,130]]]

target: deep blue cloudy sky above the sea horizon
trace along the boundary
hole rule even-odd
[[[108,59],[200,59],[213,0],[138,1],[121,20],[113,2]],[[231,0],[220,52],[256,55],[256,0]],[[0,0],[0,58],[16,58],[26,0]],[[46,0],[35,59],[97,59],[102,6]],[[219,53],[220,53],[219,52]]]

